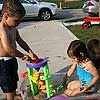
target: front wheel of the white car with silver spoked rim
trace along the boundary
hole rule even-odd
[[[41,20],[47,21],[51,19],[51,12],[48,9],[43,9],[40,11]]]

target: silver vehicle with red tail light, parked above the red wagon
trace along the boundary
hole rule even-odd
[[[85,13],[88,13],[89,16],[98,16],[99,15],[99,1],[98,0],[84,1],[83,11]]]

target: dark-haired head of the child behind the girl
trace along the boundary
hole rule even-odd
[[[91,59],[100,58],[100,41],[98,39],[91,39],[87,43],[88,52]]]

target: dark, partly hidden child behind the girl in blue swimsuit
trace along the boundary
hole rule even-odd
[[[90,59],[94,63],[95,67],[100,67],[100,41],[98,39],[91,39],[87,43]]]

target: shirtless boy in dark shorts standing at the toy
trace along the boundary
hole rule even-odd
[[[16,57],[26,61],[38,59],[15,28],[25,15],[25,9],[18,0],[5,0],[0,22],[0,86],[7,100],[14,100],[18,82]],[[17,49],[16,42],[30,56]],[[32,59],[31,59],[32,58]]]

